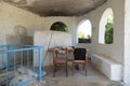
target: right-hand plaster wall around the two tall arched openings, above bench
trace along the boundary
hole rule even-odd
[[[101,17],[106,9],[110,8],[114,12],[114,43],[100,44],[99,43],[99,25]],[[90,19],[92,24],[92,43],[79,44],[88,47],[92,53],[103,55],[112,58],[118,63],[123,64],[123,33],[125,33],[125,0],[107,0],[105,4],[93,10],[87,15],[79,17],[79,23],[82,19]]]

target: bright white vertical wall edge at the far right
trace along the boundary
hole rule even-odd
[[[130,86],[130,0],[125,2],[125,83]]]

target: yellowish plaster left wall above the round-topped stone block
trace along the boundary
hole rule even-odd
[[[0,45],[6,44],[6,34],[13,34],[17,25],[26,27],[27,33],[32,35],[40,28],[40,17],[0,1]],[[0,68],[4,67],[4,59],[0,56]]]

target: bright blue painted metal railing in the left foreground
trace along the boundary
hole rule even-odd
[[[18,48],[14,48],[14,47],[18,47]],[[0,51],[0,54],[5,54],[6,55],[6,67],[4,69],[5,72],[6,72],[6,86],[9,86],[9,80],[10,80],[9,78],[9,72],[10,72],[10,70],[13,69],[15,71],[16,68],[17,68],[17,66],[15,66],[15,58],[16,58],[15,57],[15,53],[17,53],[17,52],[28,52],[28,51],[36,51],[36,49],[38,49],[38,58],[39,58],[38,78],[34,77],[31,80],[27,80],[25,82],[22,82],[17,86],[25,86],[28,83],[34,82],[36,80],[38,80],[39,82],[42,80],[43,75],[46,74],[46,72],[42,72],[42,70],[41,70],[41,68],[42,68],[42,60],[41,60],[41,58],[42,58],[43,46],[34,46],[34,45],[0,45],[0,48],[4,48],[4,49]],[[13,49],[10,49],[10,48],[13,48]],[[10,66],[10,53],[14,53],[14,66],[13,67]],[[28,53],[27,53],[27,56],[28,56]],[[27,59],[29,57],[27,57]],[[32,71],[35,71],[35,70],[32,70]]]

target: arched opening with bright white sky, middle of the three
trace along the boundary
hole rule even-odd
[[[78,43],[91,43],[92,27],[89,19],[81,22],[78,27]]]

